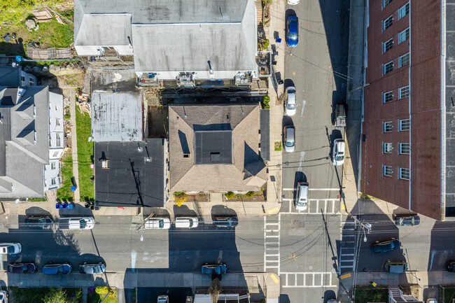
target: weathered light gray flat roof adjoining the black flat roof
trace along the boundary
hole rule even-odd
[[[92,94],[93,141],[141,141],[142,104],[133,93]]]

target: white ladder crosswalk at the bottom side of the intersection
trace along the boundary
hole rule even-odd
[[[337,287],[337,275],[333,272],[282,272],[283,288]]]

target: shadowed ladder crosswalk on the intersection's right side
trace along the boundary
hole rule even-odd
[[[353,221],[344,222],[342,241],[339,246],[339,274],[354,272],[356,268],[356,224]]]

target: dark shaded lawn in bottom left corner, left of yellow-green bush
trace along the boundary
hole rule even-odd
[[[19,288],[15,286],[10,287],[10,297],[14,298],[15,303],[30,303],[30,302],[43,302],[46,295],[50,295],[52,288]],[[62,288],[65,296],[69,298],[68,302],[82,302],[82,291],[80,288]],[[71,300],[72,299],[72,300]],[[10,299],[11,300],[11,299]]]

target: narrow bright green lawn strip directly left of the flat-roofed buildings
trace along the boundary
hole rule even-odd
[[[76,106],[76,129],[78,132],[78,171],[80,200],[94,201],[94,188],[90,178],[93,176],[93,142],[88,138],[92,136],[92,120],[88,113],[83,115]]]

